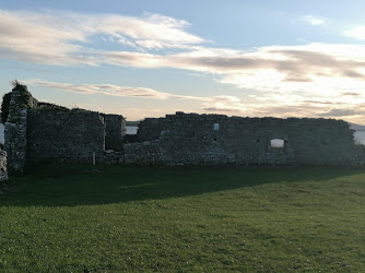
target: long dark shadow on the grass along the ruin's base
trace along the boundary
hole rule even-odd
[[[0,194],[0,206],[74,206],[158,200],[364,173],[364,168],[354,167],[57,166],[13,177]]]

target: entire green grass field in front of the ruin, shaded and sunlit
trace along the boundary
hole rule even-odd
[[[58,166],[0,190],[0,272],[364,272],[365,169]]]

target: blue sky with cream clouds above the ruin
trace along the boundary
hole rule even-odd
[[[365,1],[0,0],[0,92],[119,114],[365,124]]]

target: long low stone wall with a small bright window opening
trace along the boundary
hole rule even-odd
[[[242,118],[182,114],[145,119],[141,143],[125,145],[127,164],[301,164],[354,163],[353,131],[330,119]],[[273,139],[284,147],[271,146]]]

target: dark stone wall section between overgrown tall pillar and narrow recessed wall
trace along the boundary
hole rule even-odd
[[[26,163],[96,163],[104,159],[104,118],[86,110],[30,109]]]

